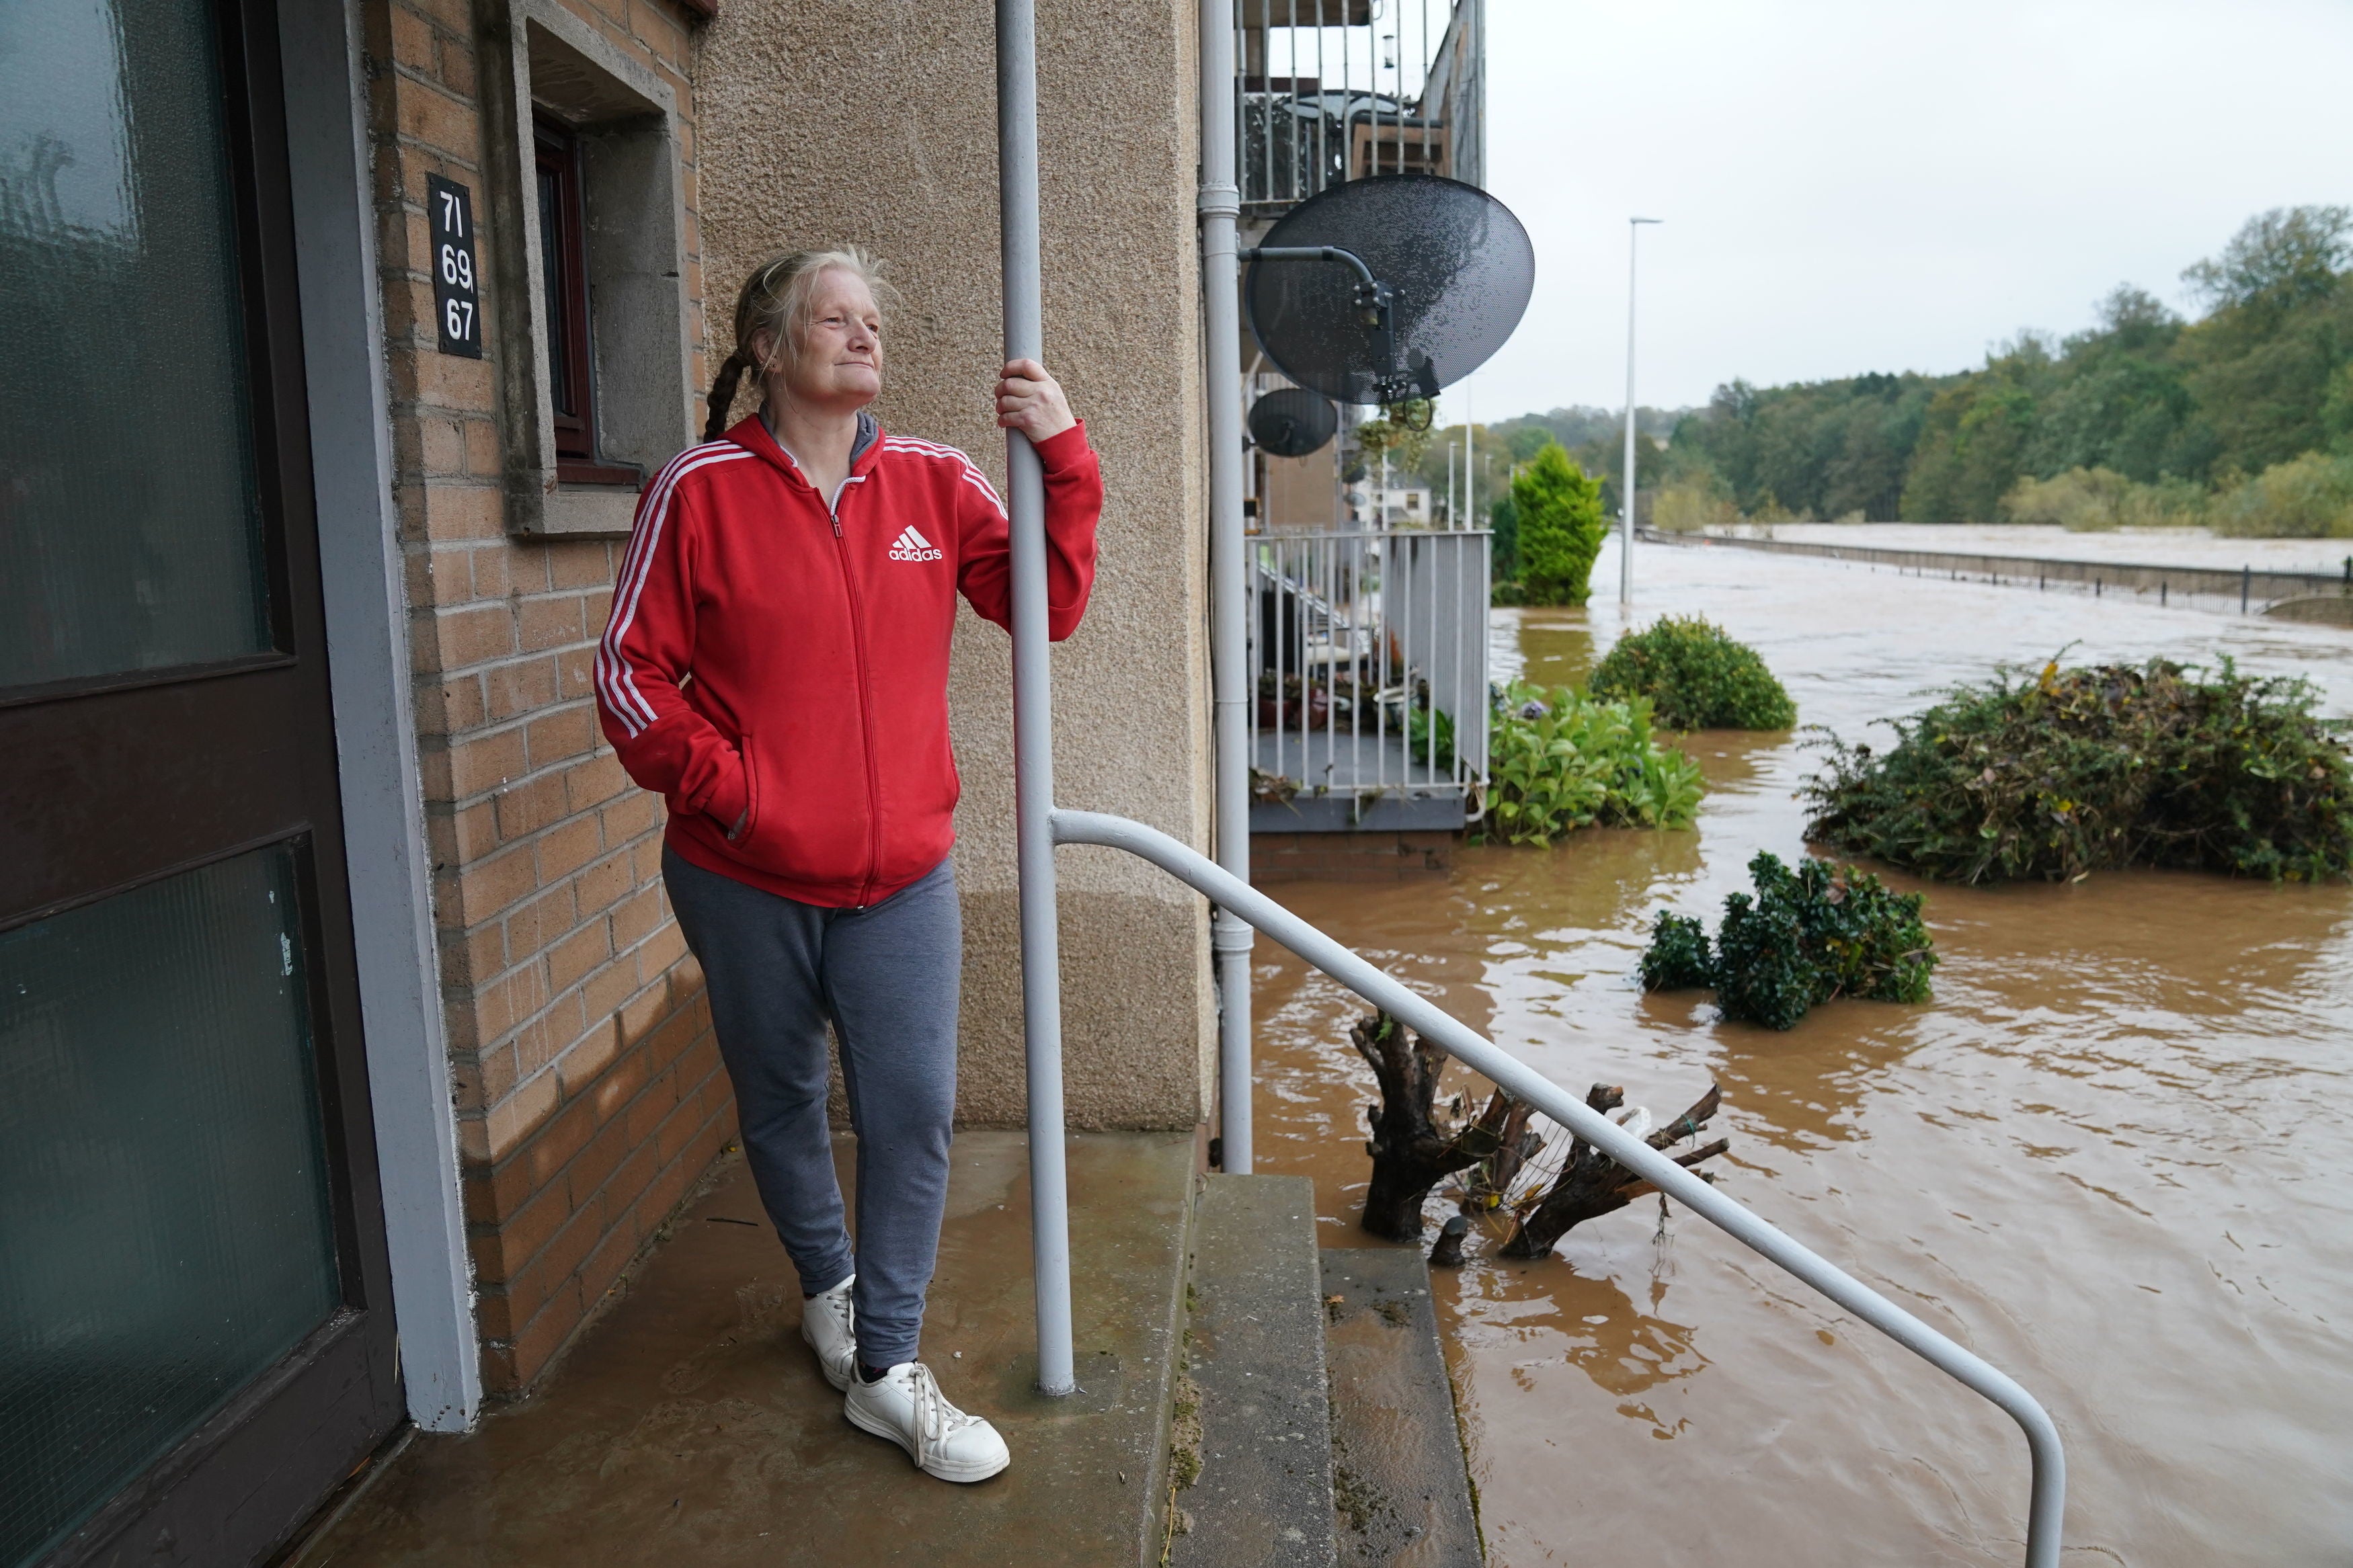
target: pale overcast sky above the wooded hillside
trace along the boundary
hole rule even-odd
[[[2348,0],[1487,0],[1487,183],[1537,299],[1473,414],[1955,371],[2254,212],[2353,202]],[[1449,393],[1447,418],[1461,418]]]

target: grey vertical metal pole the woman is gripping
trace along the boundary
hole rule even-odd
[[[1005,357],[1045,353],[1038,289],[1038,16],[998,0],[998,223],[1005,256]],[[1014,844],[1021,870],[1021,1039],[1028,1053],[1031,1267],[1038,1286],[1038,1392],[1073,1394],[1071,1194],[1061,1131],[1061,936],[1054,926],[1054,689],[1047,665],[1045,473],[1005,433],[1014,571]],[[1240,475],[1235,475],[1240,477]]]

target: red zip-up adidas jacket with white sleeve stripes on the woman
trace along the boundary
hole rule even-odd
[[[1012,623],[1005,503],[972,458],[864,416],[859,440],[831,510],[758,416],[678,454],[638,501],[595,661],[605,736],[668,797],[671,849],[828,907],[948,856],[955,595]],[[1085,425],[1038,456],[1059,642],[1094,585],[1104,480]]]

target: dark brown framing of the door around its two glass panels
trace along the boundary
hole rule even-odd
[[[214,0],[275,651],[0,701],[0,929],[292,844],[341,1307],[49,1552],[247,1563],[402,1415],[327,677],[275,0]]]

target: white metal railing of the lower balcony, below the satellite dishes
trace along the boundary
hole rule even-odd
[[[1487,531],[1259,534],[1259,799],[1459,799],[1487,783]]]

